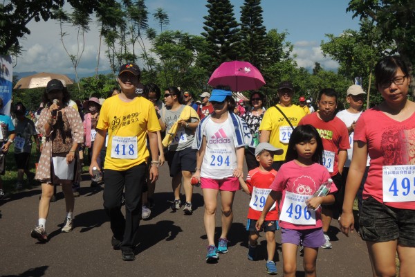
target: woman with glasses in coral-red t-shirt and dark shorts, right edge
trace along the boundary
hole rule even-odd
[[[411,77],[400,57],[385,57],[375,68],[376,87],[384,101],[365,111],[356,123],[353,157],[346,182],[340,229],[353,231],[353,202],[365,172],[369,174],[359,211],[360,235],[366,241],[374,276],[415,272],[415,103],[407,99]]]

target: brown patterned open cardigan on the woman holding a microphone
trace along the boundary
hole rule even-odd
[[[35,179],[41,181],[42,183],[52,183],[52,174],[51,174],[51,165],[50,161],[52,160],[52,138],[55,137],[59,140],[59,145],[64,145],[66,143],[71,143],[69,149],[72,147],[73,143],[83,143],[84,142],[84,127],[82,125],[82,120],[78,111],[73,109],[73,107],[64,107],[62,109],[64,114],[62,119],[64,120],[64,133],[67,133],[67,136],[62,138],[60,136],[54,136],[53,131],[50,132],[49,136],[46,136],[46,130],[44,125],[48,120],[50,120],[51,114],[48,108],[42,109],[39,120],[37,120],[36,127],[42,136],[46,137],[46,143],[40,154],[39,164],[36,170]],[[59,113],[60,114],[60,113]],[[65,127],[66,126],[66,127]],[[69,131],[69,132],[68,132]],[[64,141],[61,141],[63,139]],[[57,145],[56,143],[55,145]],[[67,149],[66,149],[67,150]],[[56,151],[54,151],[56,152]],[[66,151],[65,151],[66,152]]]

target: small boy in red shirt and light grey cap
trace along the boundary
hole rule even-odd
[[[255,149],[255,157],[259,161],[259,167],[250,170],[246,177],[246,183],[243,179],[239,179],[243,190],[251,195],[249,210],[248,210],[248,224],[246,230],[249,231],[249,250],[248,260],[255,260],[259,231],[255,229],[255,224],[261,216],[264,208],[266,198],[270,193],[270,185],[273,183],[277,171],[273,169],[274,154],[282,154],[282,150],[275,148],[270,143],[259,143]],[[266,249],[268,252],[268,259],[266,262],[266,269],[268,274],[277,274],[277,267],[273,261],[275,254],[275,230],[278,226],[278,205],[275,202],[270,211],[266,214],[262,230],[266,235]]]

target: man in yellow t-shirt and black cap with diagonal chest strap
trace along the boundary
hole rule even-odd
[[[297,127],[299,120],[306,115],[304,109],[293,105],[293,95],[293,84],[288,81],[281,82],[278,86],[279,102],[266,110],[259,126],[260,143],[269,141],[275,148],[284,150],[283,154],[274,155],[273,168],[275,170],[279,170],[284,163],[293,128]]]

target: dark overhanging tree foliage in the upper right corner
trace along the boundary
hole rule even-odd
[[[394,42],[392,53],[399,53],[412,75],[411,87],[414,93],[415,63],[415,1],[413,0],[353,0],[347,11],[353,17],[370,18],[376,22],[384,42]]]

